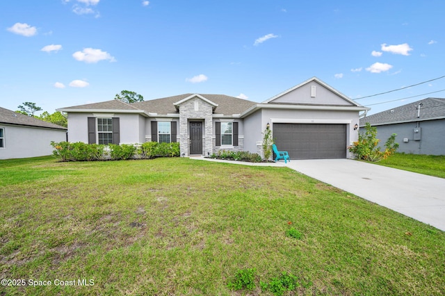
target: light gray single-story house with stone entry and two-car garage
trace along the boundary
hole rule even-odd
[[[181,94],[57,110],[68,115],[70,142],[180,142],[183,156],[220,149],[261,154],[269,123],[278,148],[299,159],[349,157],[359,111],[369,108],[314,77],[261,104],[223,94]]]

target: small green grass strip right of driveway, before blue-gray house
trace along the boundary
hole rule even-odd
[[[378,165],[445,178],[445,156],[396,153]]]

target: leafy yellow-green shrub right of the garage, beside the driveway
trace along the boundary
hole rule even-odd
[[[378,147],[380,140],[375,138],[377,136],[377,128],[367,122],[364,129],[364,133],[359,133],[359,140],[354,142],[353,146],[348,147],[349,151],[355,154],[355,158],[363,161],[378,162],[397,151],[396,133],[393,133],[388,138],[385,143],[385,151],[380,151],[380,147]]]

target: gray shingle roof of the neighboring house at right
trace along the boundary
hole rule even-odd
[[[422,105],[420,108],[420,117],[417,117],[419,104]],[[439,118],[445,118],[445,99],[428,98],[363,117],[360,119],[360,126],[364,126],[366,122],[369,122],[371,125],[380,125],[400,122],[419,122]]]

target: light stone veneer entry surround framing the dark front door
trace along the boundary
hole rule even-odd
[[[197,110],[195,110],[195,101],[197,101]],[[213,106],[211,106],[207,101],[203,101],[198,97],[188,99],[179,105],[179,127],[177,140],[180,142],[181,156],[189,156],[188,150],[190,146],[188,142],[190,140],[188,122],[191,121],[202,121],[204,131],[202,133],[202,155],[207,155],[212,153],[212,133],[213,133],[213,122],[212,113]]]

